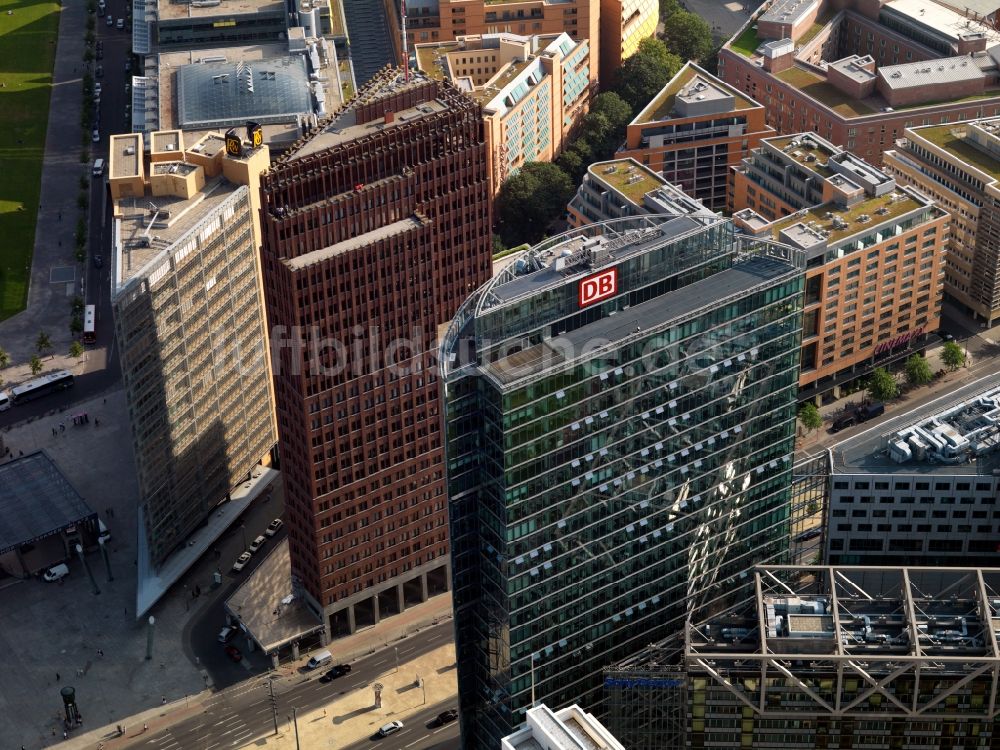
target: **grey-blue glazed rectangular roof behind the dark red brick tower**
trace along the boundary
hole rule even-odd
[[[285,123],[311,113],[305,58],[193,63],[177,70],[177,123],[185,130]]]

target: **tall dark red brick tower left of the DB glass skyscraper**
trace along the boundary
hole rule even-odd
[[[262,193],[292,575],[353,632],[450,585],[436,340],[490,276],[482,112],[386,70]]]

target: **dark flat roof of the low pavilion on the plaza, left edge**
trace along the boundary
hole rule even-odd
[[[95,515],[43,451],[0,465],[0,555]]]

